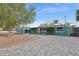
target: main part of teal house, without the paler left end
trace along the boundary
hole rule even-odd
[[[58,35],[58,36],[69,36],[71,34],[71,29],[66,26],[58,27],[40,27],[40,28],[30,28],[29,33],[31,34],[43,34],[43,35]]]

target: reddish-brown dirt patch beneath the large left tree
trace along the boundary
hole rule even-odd
[[[0,34],[0,48],[36,40],[37,38],[39,37],[35,37],[29,34]]]

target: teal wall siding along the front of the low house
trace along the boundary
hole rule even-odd
[[[30,34],[44,34],[44,35],[58,35],[58,36],[68,36],[69,31],[68,27],[63,27],[63,31],[56,31],[56,27],[50,27],[50,28],[40,28],[40,32],[38,33],[37,28],[30,28],[28,32]],[[25,29],[23,28],[17,28],[16,30],[18,33],[24,33]]]

